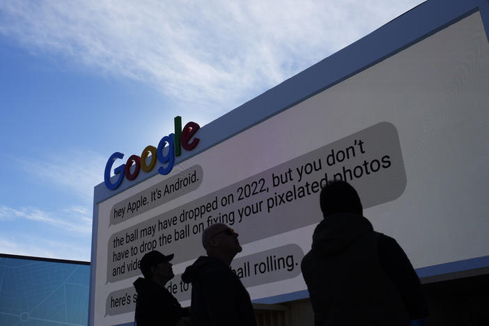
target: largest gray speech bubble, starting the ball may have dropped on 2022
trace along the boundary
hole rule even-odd
[[[316,224],[321,186],[333,178],[350,182],[364,208],[401,196],[406,175],[396,127],[378,123],[114,233],[107,282],[139,274],[134,262],[150,250],[175,254],[174,263],[196,258],[202,231],[215,222],[240,233],[242,244]]]

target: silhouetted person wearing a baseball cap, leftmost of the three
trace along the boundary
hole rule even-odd
[[[150,251],[141,258],[144,278],[134,281],[137,326],[190,325],[188,309],[183,309],[164,287],[175,276],[171,259],[173,254],[164,256],[160,251]]]

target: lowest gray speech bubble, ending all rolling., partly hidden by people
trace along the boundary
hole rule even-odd
[[[286,244],[236,258],[231,263],[231,270],[238,275],[242,284],[249,288],[297,277],[300,274],[300,261],[303,257],[304,252],[297,244]],[[192,285],[183,283],[182,274],[173,277],[165,284],[165,288],[179,302],[190,300],[192,296]],[[136,297],[134,287],[111,292],[105,303],[106,316],[134,311]]]

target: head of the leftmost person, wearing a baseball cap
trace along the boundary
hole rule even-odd
[[[150,251],[141,258],[141,272],[145,279],[165,284],[175,276],[170,261],[173,254],[165,256],[160,251]]]

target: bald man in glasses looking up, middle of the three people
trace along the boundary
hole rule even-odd
[[[212,224],[203,231],[208,256],[200,256],[182,275],[192,282],[192,325],[256,326],[247,290],[229,267],[240,252],[238,233],[226,224]]]

